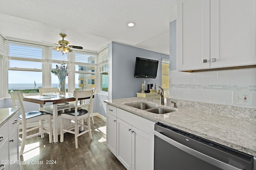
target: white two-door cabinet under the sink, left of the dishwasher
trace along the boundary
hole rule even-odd
[[[155,122],[117,108],[116,156],[126,169],[154,168],[154,124]]]

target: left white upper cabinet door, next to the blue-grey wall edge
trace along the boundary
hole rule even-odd
[[[209,68],[210,0],[178,0],[177,3],[177,68]]]

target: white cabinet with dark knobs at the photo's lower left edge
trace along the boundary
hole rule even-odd
[[[0,128],[0,136],[4,137],[1,141],[0,139],[0,160],[6,160],[6,163],[9,163],[9,160],[12,161],[10,164],[0,164],[0,170],[18,170],[19,164],[19,138],[18,138],[18,113],[10,118]]]

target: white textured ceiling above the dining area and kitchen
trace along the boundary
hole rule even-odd
[[[0,34],[58,43],[65,33],[70,45],[90,51],[114,41],[169,55],[175,5],[176,0],[4,0]],[[136,25],[128,27],[130,21]]]

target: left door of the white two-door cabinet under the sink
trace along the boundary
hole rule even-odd
[[[132,169],[132,126],[117,118],[116,157],[127,170]]]

